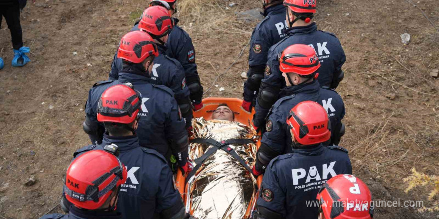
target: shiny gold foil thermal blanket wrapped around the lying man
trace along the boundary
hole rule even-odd
[[[195,138],[257,140],[251,125],[223,120],[193,119]],[[231,144],[236,153],[251,167],[255,162],[256,145]],[[189,159],[201,157],[207,144],[191,143]],[[197,219],[245,219],[247,208],[256,201],[256,179],[236,159],[223,150],[211,155],[188,181],[186,210]]]

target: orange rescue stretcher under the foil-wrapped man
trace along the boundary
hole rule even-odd
[[[203,100],[204,107],[198,111],[194,112],[194,118],[204,117],[206,120],[212,119],[212,114],[215,109],[217,109],[219,104],[225,103],[228,105],[228,107],[234,112],[235,115],[235,121],[240,122],[242,124],[248,124],[252,125],[252,118],[254,114],[254,110],[250,113],[245,111],[242,107],[242,100],[236,99],[236,98],[207,98]],[[258,133],[260,136],[260,133]],[[260,146],[260,140],[256,142],[256,148],[259,148]],[[184,173],[180,169],[178,169],[177,172],[177,179],[176,179],[176,188],[179,190],[183,202],[187,203],[186,200],[188,197],[188,185],[186,185],[186,177]],[[260,188],[262,182],[262,175],[260,175],[257,178],[257,187]],[[258,197],[258,192],[256,192],[256,195],[254,198],[256,199]],[[249,205],[247,206],[245,217],[243,219],[248,219],[250,217],[251,211],[254,207],[254,203],[256,200],[252,200]],[[192,213],[191,213],[192,214]]]

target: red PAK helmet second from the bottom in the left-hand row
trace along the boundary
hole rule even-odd
[[[133,122],[142,103],[140,98],[140,93],[127,85],[108,88],[99,99],[98,121],[124,124]]]

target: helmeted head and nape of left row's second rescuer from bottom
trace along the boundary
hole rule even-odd
[[[133,135],[141,103],[141,95],[131,83],[109,87],[99,99],[97,119],[112,136]]]

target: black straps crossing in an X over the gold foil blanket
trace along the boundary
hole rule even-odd
[[[217,141],[212,138],[195,138],[191,140],[191,143],[199,143],[199,144],[208,144],[213,145],[214,147],[211,147],[209,150],[206,151],[203,156],[195,159],[196,166],[194,169],[188,174],[188,177],[186,177],[186,182],[188,182],[189,179],[191,179],[197,171],[200,169],[200,167],[203,165],[203,163],[212,155],[214,154],[218,149],[221,149],[228,154],[230,154],[233,158],[235,158],[245,169],[248,170],[248,172],[252,173],[250,167],[245,163],[244,160],[236,153],[233,148],[229,147],[230,144],[252,144],[254,143],[251,139],[228,139],[225,141]]]

